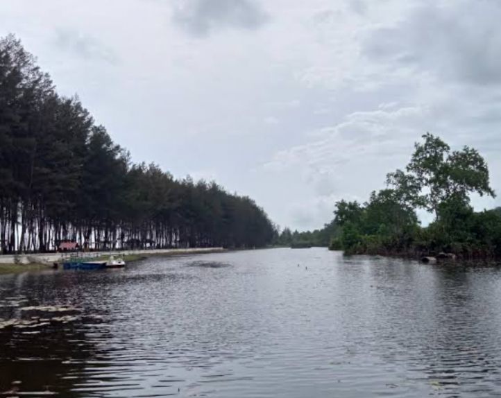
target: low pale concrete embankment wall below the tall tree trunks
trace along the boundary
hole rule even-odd
[[[210,252],[223,252],[223,248],[190,248],[190,249],[151,249],[151,250],[114,250],[110,252],[90,252],[85,253],[92,255],[92,257],[101,256],[112,256],[117,254],[122,254],[124,256],[128,254],[140,254],[148,257],[148,255],[153,254],[199,254],[199,253],[210,253]],[[40,254],[15,254],[15,255],[5,255],[0,256],[0,264],[12,264],[12,263],[54,263],[61,261],[64,256],[68,256],[69,253],[40,253]]]

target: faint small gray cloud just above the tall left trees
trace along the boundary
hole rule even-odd
[[[94,37],[85,35],[72,29],[58,29],[54,40],[56,46],[63,51],[74,53],[85,60],[103,60],[110,64],[117,63],[117,55],[96,40]]]

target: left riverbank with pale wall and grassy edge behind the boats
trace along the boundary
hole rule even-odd
[[[126,263],[132,263],[149,257],[167,257],[182,254],[207,254],[224,252],[224,248],[189,248],[189,249],[151,249],[151,250],[113,250],[110,252],[90,252],[94,259],[108,259],[121,256]],[[0,275],[28,271],[49,270],[53,263],[62,262],[69,253],[13,254],[0,256]]]

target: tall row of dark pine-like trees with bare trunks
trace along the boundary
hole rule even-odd
[[[275,227],[253,200],[176,180],[56,93],[14,36],[0,40],[0,252],[81,247],[250,248]]]

